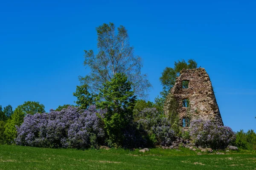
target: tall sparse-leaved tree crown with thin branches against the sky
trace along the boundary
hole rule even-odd
[[[116,73],[123,73],[131,82],[134,93],[145,97],[151,84],[147,76],[141,74],[142,61],[139,56],[134,55],[128,31],[124,26],[119,26],[116,30],[113,23],[104,23],[96,31],[99,52],[95,55],[93,50],[84,51],[84,65],[90,68],[90,74],[79,77],[81,84],[88,85],[91,93],[98,94],[104,83],[111,81]]]

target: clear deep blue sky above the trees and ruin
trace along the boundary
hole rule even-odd
[[[74,104],[83,50],[97,50],[95,28],[128,29],[143,73],[162,90],[177,59],[206,69],[224,125],[256,130],[256,1],[0,1],[0,105],[38,101],[46,111]]]

